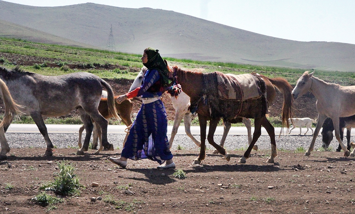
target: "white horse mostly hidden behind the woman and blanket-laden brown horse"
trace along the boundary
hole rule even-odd
[[[147,68],[145,66],[142,67],[141,71],[138,73],[136,79],[133,81],[132,86],[130,88],[131,90],[134,90],[142,85],[143,81],[143,76],[144,72],[146,72]],[[183,91],[179,94],[177,98],[171,97],[170,94],[168,96],[171,99],[171,102],[173,103],[173,107],[175,109],[175,119],[174,119],[174,125],[173,125],[173,130],[171,131],[171,137],[169,140],[169,145],[170,148],[173,145],[174,137],[176,133],[178,132],[178,128],[180,126],[182,118],[184,118],[184,125],[185,125],[185,132],[186,135],[189,136],[192,141],[196,144],[196,146],[200,147],[201,142],[198,141],[193,135],[191,134],[191,112],[189,110],[189,105],[190,105],[190,97],[185,94]],[[251,136],[251,120],[245,117],[242,117],[242,122],[245,124],[247,131],[248,131],[248,144],[252,141],[252,136]],[[227,121],[223,121],[224,129],[223,129],[223,136],[222,139],[220,140],[219,146],[223,147],[225,139],[228,135],[229,129],[231,127],[231,124]],[[258,146],[254,145],[253,149],[258,150]],[[213,153],[217,154],[218,151],[217,149],[213,150]]]

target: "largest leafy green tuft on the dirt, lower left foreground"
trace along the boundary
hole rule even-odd
[[[54,181],[40,187],[40,190],[50,190],[60,195],[79,195],[84,186],[74,174],[74,167],[67,161],[58,162],[59,172],[54,172]]]

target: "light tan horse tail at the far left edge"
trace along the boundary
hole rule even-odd
[[[7,88],[5,82],[2,81],[2,79],[0,79],[0,89],[2,92],[2,100],[4,101],[5,105],[4,118],[2,119],[2,121],[0,120],[0,128],[2,128],[11,124],[13,115],[18,115],[22,113],[20,111],[20,108],[22,108],[22,106],[16,104],[15,101],[12,99],[9,88]]]

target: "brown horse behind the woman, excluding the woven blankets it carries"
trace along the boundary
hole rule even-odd
[[[189,95],[191,98],[191,103],[201,99],[201,94],[203,91],[203,73],[201,72],[193,72],[187,69],[179,68],[178,66],[169,67],[171,72],[175,74],[177,77],[177,81],[181,84],[182,90]],[[272,90],[274,91],[274,86],[276,86],[284,95],[284,103],[282,107],[282,125],[286,124],[286,127],[289,127],[288,118],[293,116],[293,97],[291,94],[292,87],[283,78],[268,78],[261,75],[262,79],[266,83],[267,92]],[[272,92],[271,92],[272,94]],[[198,120],[200,122],[200,131],[201,131],[201,148],[200,154],[198,158],[193,161],[193,164],[200,164],[202,160],[204,160],[206,156],[206,128],[207,121],[209,120],[209,131],[207,140],[208,142],[218,150],[220,154],[224,156],[224,158],[229,161],[230,155],[226,153],[225,149],[220,147],[217,143],[213,141],[213,135],[218,125],[220,118],[211,118],[210,110],[208,104],[205,104],[203,101],[198,102],[197,105],[197,114]],[[237,115],[236,115],[237,116]],[[266,119],[266,116],[263,115],[261,118],[255,118],[255,130],[253,133],[253,139],[250,143],[248,149],[244,153],[243,157],[239,160],[239,163],[246,163],[246,159],[249,158],[251,149],[256,143],[257,139],[261,136],[261,126],[266,128],[270,139],[271,139],[271,156],[268,159],[268,163],[273,163],[274,158],[277,156],[276,142],[275,142],[275,130],[274,127],[270,124],[270,122]]]

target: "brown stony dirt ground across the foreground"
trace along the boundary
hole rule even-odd
[[[43,157],[43,148],[12,149],[0,162],[0,213],[354,213],[354,159],[342,153],[306,157],[279,151],[276,163],[269,164],[267,150],[252,152],[246,164],[238,164],[242,151],[230,151],[226,162],[208,150],[201,165],[191,165],[197,149],[172,152],[186,179],[175,178],[173,169],[156,169],[150,160],[116,167],[108,157],[120,150],[77,156],[76,149],[55,149],[53,157]],[[86,188],[46,211],[31,198],[43,183],[54,180],[58,160],[73,165]],[[99,186],[92,187],[92,182]],[[6,189],[7,184],[13,188]],[[125,193],[126,188],[132,193]],[[116,209],[105,200],[91,202],[99,196],[125,203]]]

